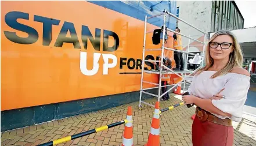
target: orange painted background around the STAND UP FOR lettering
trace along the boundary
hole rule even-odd
[[[42,9],[44,8],[44,9]],[[46,9],[47,8],[47,9]],[[29,20],[17,21],[37,30],[39,39],[33,44],[18,44],[6,38],[3,31],[16,32],[20,37],[28,34],[10,28],[5,23],[8,12],[29,13]],[[52,25],[52,42],[42,45],[42,23],[33,21],[34,15],[60,20],[59,25]],[[81,49],[71,43],[55,47],[57,36],[64,21],[74,23]],[[101,29],[100,51],[95,51],[88,40],[85,50],[81,40],[81,26],[86,25],[95,36],[95,28]],[[147,30],[157,27],[147,24]],[[103,29],[117,33],[120,45],[116,51],[103,51]],[[141,74],[120,74],[120,72],[141,72],[130,70],[127,66],[120,69],[120,58],[142,59],[143,21],[114,12],[86,1],[2,1],[1,2],[1,111],[22,107],[38,106],[94,98],[104,95],[139,91]],[[70,37],[70,34],[67,34]],[[169,37],[167,46],[173,48],[173,38]],[[113,39],[109,45],[114,44]],[[146,48],[160,48],[161,44],[152,43],[152,33],[146,36]],[[93,53],[114,54],[118,61],[109,74],[103,75],[103,58],[99,59],[99,70],[93,76],[85,76],[80,71],[80,51],[88,53],[88,69],[93,66]],[[147,51],[155,59],[160,51]],[[172,58],[172,51],[165,51]],[[149,66],[145,66],[150,69]],[[144,74],[145,80],[158,82],[156,74]],[[153,87],[143,84],[144,88]],[[139,100],[139,97],[138,97]]]

